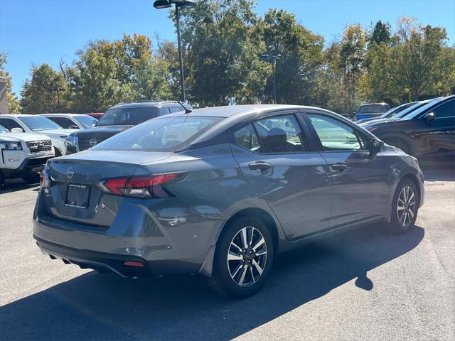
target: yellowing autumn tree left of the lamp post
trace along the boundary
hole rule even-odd
[[[146,36],[90,42],[79,50],[73,77],[77,112],[104,111],[119,102],[168,98],[168,65],[152,53]]]

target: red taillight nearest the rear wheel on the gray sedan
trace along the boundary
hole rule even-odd
[[[115,178],[102,183],[105,192],[125,197],[168,197],[170,193],[164,185],[178,180],[184,173],[167,173],[159,175],[136,176],[132,178]]]

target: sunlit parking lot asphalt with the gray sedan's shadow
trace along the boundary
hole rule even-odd
[[[455,340],[455,171],[425,171],[412,232],[348,229],[277,258],[256,296],[199,276],[125,279],[41,254],[36,186],[0,194],[1,340]]]

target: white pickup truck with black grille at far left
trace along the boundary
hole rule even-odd
[[[54,157],[52,142],[42,134],[11,133],[0,126],[0,186],[4,179],[38,182],[38,172]]]

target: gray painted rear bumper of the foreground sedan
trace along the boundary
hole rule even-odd
[[[45,254],[121,276],[125,269],[117,268],[130,260],[146,264],[132,276],[211,274],[215,239],[223,220],[183,207],[174,207],[180,219],[168,219],[160,215],[163,211],[158,207],[137,205],[136,199],[124,200],[108,227],[97,227],[53,217],[43,207],[43,195],[41,191],[33,214],[33,237]],[[180,204],[175,201],[174,205]],[[164,212],[169,208],[164,207]]]

